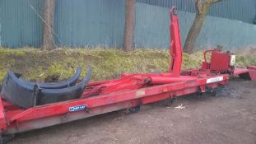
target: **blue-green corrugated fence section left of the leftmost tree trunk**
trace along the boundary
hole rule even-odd
[[[0,25],[2,46],[40,46],[41,22],[39,16],[30,8],[40,11],[42,1],[35,0],[1,0]]]

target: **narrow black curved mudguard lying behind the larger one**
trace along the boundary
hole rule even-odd
[[[21,81],[24,81],[30,86],[35,86],[38,85],[40,88],[46,88],[46,89],[58,89],[58,88],[64,88],[64,87],[69,87],[69,86],[74,86],[77,83],[78,78],[80,77],[81,74],[81,68],[77,68],[76,73],[67,79],[67,81],[60,81],[60,82],[48,82],[48,83],[36,83],[36,82],[30,82],[26,81],[24,79],[21,79]],[[21,76],[21,74],[16,74],[16,77]]]

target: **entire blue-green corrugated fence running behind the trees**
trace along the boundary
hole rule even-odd
[[[40,47],[43,3],[44,0],[0,0],[0,46]],[[62,47],[121,47],[124,4],[124,0],[57,0],[56,44]],[[136,47],[169,47],[169,11],[165,7],[137,2]],[[179,18],[184,42],[193,13],[179,12]],[[236,48],[256,44],[256,28],[241,21],[208,16],[197,46],[216,44]]]

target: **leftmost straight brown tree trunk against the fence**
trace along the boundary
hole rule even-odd
[[[54,49],[55,0],[44,0],[43,44],[41,49]]]

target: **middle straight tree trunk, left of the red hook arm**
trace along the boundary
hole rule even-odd
[[[131,52],[133,50],[135,0],[125,1],[125,30],[123,35],[123,50]]]

